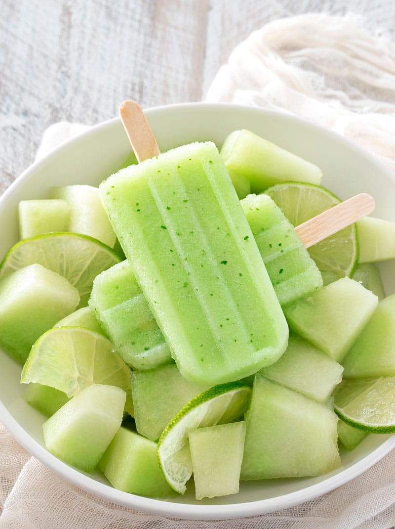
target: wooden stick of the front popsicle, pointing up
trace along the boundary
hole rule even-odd
[[[138,103],[124,101],[119,107],[119,115],[139,162],[161,153],[142,107]]]

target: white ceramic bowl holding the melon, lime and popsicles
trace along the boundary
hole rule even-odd
[[[184,104],[146,111],[162,151],[195,140],[213,140],[219,146],[236,129],[250,129],[323,170],[322,184],[342,199],[370,193],[376,216],[395,221],[395,175],[368,153],[340,135],[287,114],[256,108]],[[34,163],[0,198],[0,258],[17,241],[17,204],[22,199],[44,198],[53,185],[99,185],[130,153],[119,119],[93,127],[45,159]],[[381,266],[387,294],[395,292],[393,262]],[[395,446],[395,436],[368,436],[354,451],[342,453],[342,466],[328,475],[306,479],[242,482],[240,492],[224,498],[196,501],[193,491],[171,501],[149,499],[115,490],[99,472],[79,472],[46,451],[42,415],[22,399],[21,367],[0,351],[0,421],[26,450],[60,476],[116,504],[164,516],[220,519],[262,514],[303,503],[358,476]],[[292,433],[290,432],[290,435]]]

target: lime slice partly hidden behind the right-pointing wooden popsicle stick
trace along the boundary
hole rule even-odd
[[[294,226],[341,202],[324,187],[298,182],[277,184],[266,189],[265,193],[275,201]],[[314,244],[308,248],[308,252],[322,272],[332,272],[335,279],[350,276],[358,262],[355,224]]]

